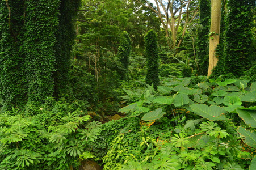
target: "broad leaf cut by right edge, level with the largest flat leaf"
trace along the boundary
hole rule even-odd
[[[256,128],[256,111],[237,109],[238,115],[245,121],[247,125]]]

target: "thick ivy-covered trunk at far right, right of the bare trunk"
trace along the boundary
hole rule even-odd
[[[229,0],[224,32],[226,73],[240,77],[251,67],[253,35],[253,0]]]

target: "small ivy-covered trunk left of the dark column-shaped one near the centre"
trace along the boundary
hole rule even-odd
[[[123,80],[127,79],[130,52],[131,52],[131,39],[128,33],[125,31],[121,35],[120,46],[118,48],[120,62],[123,66],[123,69],[120,71],[120,75],[121,75],[121,79]]]

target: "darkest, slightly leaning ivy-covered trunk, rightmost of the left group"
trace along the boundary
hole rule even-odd
[[[81,0],[61,0],[59,7],[59,24],[56,35],[56,65],[54,71],[54,96],[62,96],[66,92],[70,68],[70,51],[74,44],[75,32],[72,19],[76,15]]]

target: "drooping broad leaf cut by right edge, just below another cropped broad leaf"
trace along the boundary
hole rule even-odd
[[[247,145],[249,145],[250,147],[256,148],[256,131],[254,132],[247,131],[245,128],[241,126],[237,128],[237,131],[238,133],[240,133],[245,137],[244,142]]]

